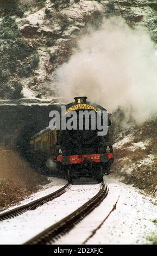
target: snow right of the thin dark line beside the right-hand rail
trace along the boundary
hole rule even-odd
[[[157,217],[157,207],[149,197],[135,188],[122,183],[109,184],[112,193],[120,195],[116,210],[111,213],[89,244],[140,244],[147,243],[146,237],[157,227],[152,222]]]

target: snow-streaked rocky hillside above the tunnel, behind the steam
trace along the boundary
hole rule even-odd
[[[89,26],[99,28],[103,17],[121,15],[130,26],[141,22],[149,28],[152,39],[157,42],[156,1],[71,0],[67,3],[60,1],[60,4],[51,0],[42,1],[42,4],[37,4],[39,1],[36,0],[29,0],[27,4],[23,2],[19,7],[23,10],[23,17],[14,17],[22,40],[32,47],[36,55],[33,59],[32,56],[20,58],[17,64],[21,68],[17,72],[10,75],[7,69],[2,75],[7,76],[9,81],[21,83],[24,97],[30,94],[42,98],[56,96],[56,68],[67,62],[76,51],[80,35],[86,33]],[[28,91],[31,93],[27,94]],[[8,97],[8,94],[4,94],[2,92],[2,99]]]

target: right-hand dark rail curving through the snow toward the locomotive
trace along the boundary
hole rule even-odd
[[[61,235],[65,235],[70,231],[77,223],[79,223],[84,217],[90,214],[102,200],[108,195],[108,186],[104,183],[100,184],[101,188],[99,192],[91,198],[87,203],[82,205],[72,214],[63,218],[56,224],[53,224],[48,229],[44,230],[42,233],[33,237],[33,239],[24,243],[25,245],[47,245],[52,244],[57,240]]]

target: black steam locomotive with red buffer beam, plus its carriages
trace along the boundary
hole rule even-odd
[[[75,111],[77,119],[80,111],[102,113],[105,108],[87,102],[87,97],[75,97],[74,102],[65,106],[65,118],[68,113]],[[60,111],[61,113],[61,111]],[[90,115],[89,115],[90,117]],[[88,117],[88,118],[89,118]],[[110,173],[110,166],[114,161],[112,143],[110,142],[109,127],[111,114],[108,113],[105,136],[98,136],[98,129],[92,129],[89,118],[89,129],[46,129],[40,131],[30,139],[30,151],[37,161],[42,161],[49,168],[52,175],[61,176],[68,180],[88,177],[98,182],[103,181],[104,174]]]

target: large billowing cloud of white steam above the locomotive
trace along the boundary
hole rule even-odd
[[[87,96],[109,112],[133,108],[141,123],[157,113],[157,58],[146,28],[123,19],[105,20],[84,35],[79,50],[58,71],[59,91],[67,102]]]

